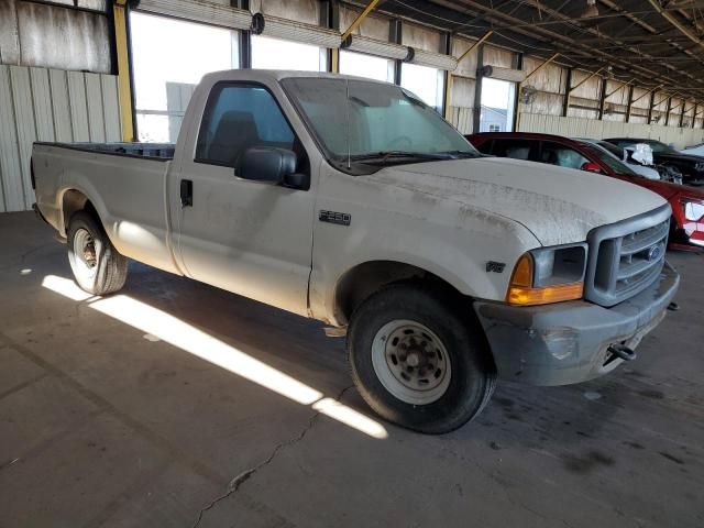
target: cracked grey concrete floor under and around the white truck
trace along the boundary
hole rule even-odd
[[[101,309],[66,297],[65,246],[33,215],[0,215],[0,241],[2,527],[188,527],[223,495],[199,526],[704,526],[701,254],[671,255],[682,309],[636,362],[499,384],[475,422],[426,437],[372,421],[314,321],[139,264]],[[265,388],[249,356],[387,438]]]

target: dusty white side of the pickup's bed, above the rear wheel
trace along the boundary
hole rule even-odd
[[[173,156],[173,144],[34,143],[37,208],[65,234],[66,200],[85,196],[120,253],[177,272],[168,246],[166,206]]]

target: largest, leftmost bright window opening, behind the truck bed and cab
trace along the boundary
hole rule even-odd
[[[175,143],[200,78],[239,67],[238,32],[140,12],[130,24],[139,140]]]

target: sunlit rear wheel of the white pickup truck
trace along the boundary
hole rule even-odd
[[[86,233],[92,241],[91,257],[76,254],[76,244],[81,244]],[[77,238],[79,240],[77,240]],[[78,211],[68,222],[68,262],[76,283],[92,295],[108,295],[124,286],[128,276],[128,260],[112,245],[102,226],[86,211]],[[88,243],[90,248],[90,243]]]

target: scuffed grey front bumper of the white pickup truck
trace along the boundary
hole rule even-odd
[[[606,374],[623,360],[615,343],[635,349],[664,317],[680,275],[666,263],[657,280],[612,308],[583,300],[536,307],[476,301],[498,376],[531,385],[568,385]]]

